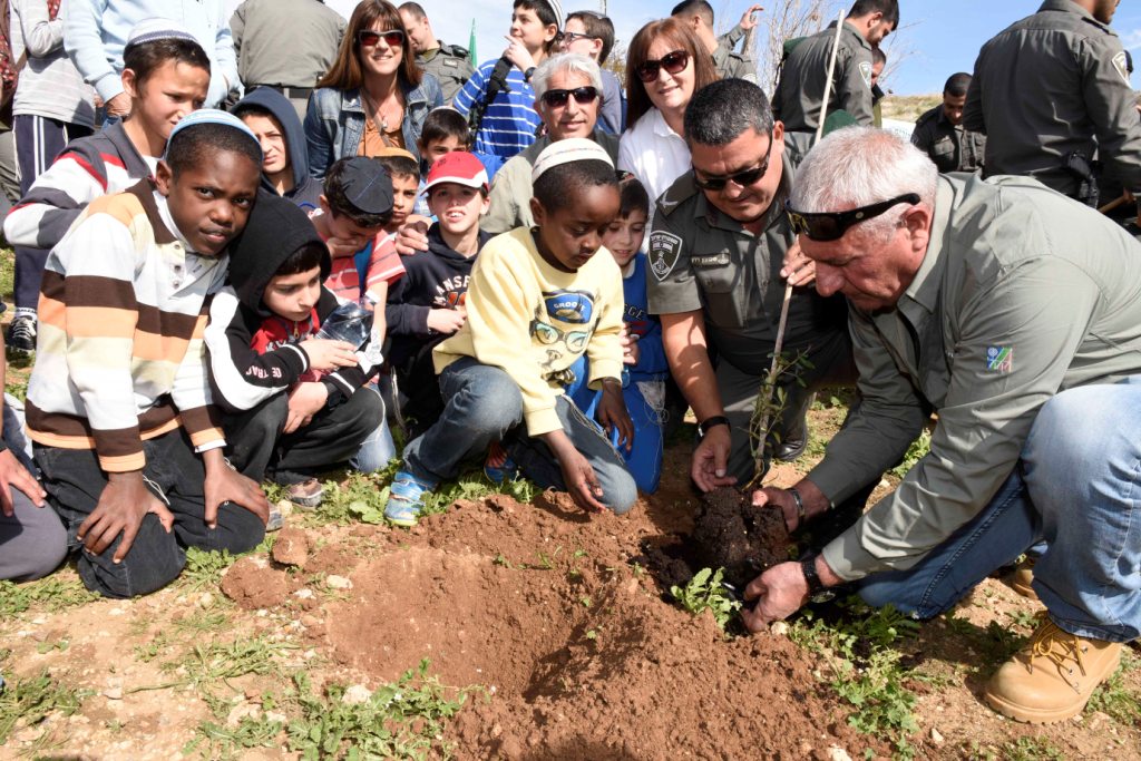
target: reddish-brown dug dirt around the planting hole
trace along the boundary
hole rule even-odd
[[[364,540],[371,557],[329,569],[351,580],[347,599],[299,605],[299,615],[334,658],[378,681],[427,657],[444,682],[483,686],[486,697],[474,694],[448,734],[459,758],[880,750],[847,726],[808,654],[778,637],[727,640],[712,618],[663,602],[630,562],[644,540],[688,528],[691,503],[650,501],[626,518],[590,519],[564,497],[460,502],[412,532],[377,529]],[[310,557],[306,569],[314,565]],[[227,593],[250,598],[235,588],[258,589],[253,570]]]

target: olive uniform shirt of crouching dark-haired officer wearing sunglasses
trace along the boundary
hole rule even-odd
[[[760,235],[711,204],[682,175],[657,202],[648,237],[647,296],[656,315],[702,310],[710,346],[722,359],[760,375],[768,371],[785,284],[780,268],[795,235],[784,212],[793,170],[784,175]],[[843,299],[796,289],[788,308],[790,350],[823,346],[845,330]]]

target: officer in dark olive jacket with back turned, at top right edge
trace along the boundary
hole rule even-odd
[[[987,136],[987,176],[1026,175],[1098,205],[1098,157],[1141,192],[1136,96],[1109,29],[1118,1],[1046,0],[982,46],[963,124]]]

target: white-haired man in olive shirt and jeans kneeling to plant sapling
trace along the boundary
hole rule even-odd
[[[1035,180],[939,176],[906,140],[841,130],[788,202],[817,290],[843,293],[863,404],[798,484],[808,516],[931,452],[855,526],[750,584],[752,629],[823,588],[929,618],[1039,540],[1046,607],[985,691],[1053,722],[1082,711],[1141,630],[1141,246]],[[767,488],[755,504],[796,504]]]

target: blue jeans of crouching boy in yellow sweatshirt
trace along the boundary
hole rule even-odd
[[[463,358],[444,369],[439,390],[445,399],[439,420],[404,448],[404,468],[430,484],[455,478],[466,460],[482,458],[493,442],[503,442],[524,473],[543,487],[566,489],[563,470],[547,445],[527,436],[523,394],[499,367]],[[556,406],[563,430],[590,463],[602,487],[601,502],[617,515],[633,507],[638,488],[621,455],[569,399]]]

